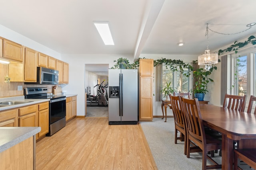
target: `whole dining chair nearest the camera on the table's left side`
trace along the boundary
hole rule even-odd
[[[193,142],[202,150],[202,170],[206,169],[221,169],[221,165],[217,164],[210,156],[208,151],[218,150],[222,147],[220,137],[211,136],[204,132],[200,105],[198,99],[180,98],[181,109],[185,115],[186,122],[186,143],[187,143],[187,158],[190,157],[190,143]],[[214,165],[206,165],[206,159],[209,159]]]

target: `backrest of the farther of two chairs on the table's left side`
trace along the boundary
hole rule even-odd
[[[180,109],[180,100],[179,96],[172,96],[170,95],[171,105],[172,105],[172,112],[174,116],[174,120],[176,125],[180,127],[184,127],[184,115]]]

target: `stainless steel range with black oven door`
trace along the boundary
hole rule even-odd
[[[52,136],[66,125],[66,96],[47,96],[47,88],[24,88],[25,99],[50,99],[49,133]]]

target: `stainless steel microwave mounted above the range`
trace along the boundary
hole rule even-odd
[[[25,82],[25,84],[58,84],[59,71],[45,67],[37,67],[36,82]]]

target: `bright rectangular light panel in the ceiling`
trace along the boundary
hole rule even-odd
[[[105,45],[114,45],[108,21],[93,21]]]

